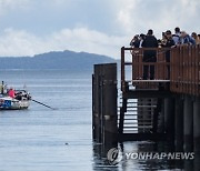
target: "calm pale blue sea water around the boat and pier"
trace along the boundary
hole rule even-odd
[[[32,99],[28,110],[0,111],[0,171],[129,171],[179,170],[174,161],[123,161],[110,165],[91,134],[91,72],[64,70],[1,70],[11,87],[26,84]],[[162,149],[152,142],[126,142],[124,150]]]

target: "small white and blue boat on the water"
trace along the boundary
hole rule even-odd
[[[27,90],[16,90],[16,97],[11,98],[7,93],[0,94],[0,110],[21,110],[30,105],[30,93]]]

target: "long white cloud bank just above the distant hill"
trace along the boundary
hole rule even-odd
[[[86,51],[120,57],[126,37],[113,37],[87,28],[62,29],[46,37],[36,37],[24,30],[7,29],[0,37],[0,56],[34,56],[48,51]]]

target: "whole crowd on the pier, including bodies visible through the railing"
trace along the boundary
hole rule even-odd
[[[200,34],[192,32],[191,36],[186,31],[181,31],[180,28],[174,29],[174,33],[170,30],[162,32],[162,39],[157,39],[153,36],[153,30],[148,30],[147,34],[136,34],[130,42],[132,48],[173,48],[178,46],[196,46],[200,44]],[[166,52],[166,62],[170,62],[170,50]],[[157,51],[156,50],[144,50],[142,62],[157,62]],[[170,67],[168,69],[168,78],[170,77]],[[154,79],[154,66],[144,64],[143,66],[143,80]]]

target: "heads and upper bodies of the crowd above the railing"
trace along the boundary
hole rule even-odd
[[[149,39],[151,39],[152,42],[149,42]],[[149,30],[147,34],[136,34],[130,42],[130,46],[133,48],[162,48],[181,44],[200,44],[200,34],[197,34],[197,32],[188,34],[186,31],[181,31],[180,28],[177,27],[174,28],[174,33],[170,30],[162,32],[162,39],[157,39],[153,36],[153,30]]]

